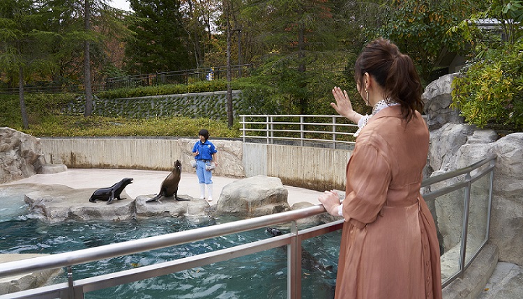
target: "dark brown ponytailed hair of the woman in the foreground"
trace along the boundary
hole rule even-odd
[[[410,121],[414,111],[423,111],[423,88],[412,59],[402,54],[390,40],[378,38],[368,43],[356,60],[354,79],[365,86],[365,72],[385,91],[385,98],[401,105],[403,118]]]

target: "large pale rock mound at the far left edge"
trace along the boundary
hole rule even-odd
[[[43,166],[40,139],[10,128],[0,128],[0,183],[17,181]]]

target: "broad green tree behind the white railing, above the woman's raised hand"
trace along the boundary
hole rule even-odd
[[[321,73],[326,61],[336,55],[334,4],[332,0],[253,0],[241,9],[243,24],[252,25],[243,26],[243,34],[255,36],[261,49],[255,55],[261,58],[257,75],[277,90],[289,114],[312,113],[309,104],[317,99],[317,92],[333,87],[322,83]]]

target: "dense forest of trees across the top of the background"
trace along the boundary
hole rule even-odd
[[[90,116],[107,78],[231,65],[250,66],[241,86],[267,114],[332,113],[333,86],[356,97],[352,70],[368,41],[391,39],[427,84],[446,72],[443,51],[474,62],[518,45],[523,13],[520,0],[130,0],[130,8],[0,2],[0,91],[17,91],[24,128],[24,90],[33,86],[81,86]],[[499,20],[505,36],[478,33],[480,18]]]

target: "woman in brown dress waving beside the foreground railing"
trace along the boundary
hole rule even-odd
[[[420,195],[429,132],[418,111],[422,86],[409,56],[379,38],[358,57],[354,75],[362,116],[346,91],[331,106],[358,123],[347,164],[345,199],[326,191],[319,201],[344,217],[335,298],[441,299],[436,227]]]

